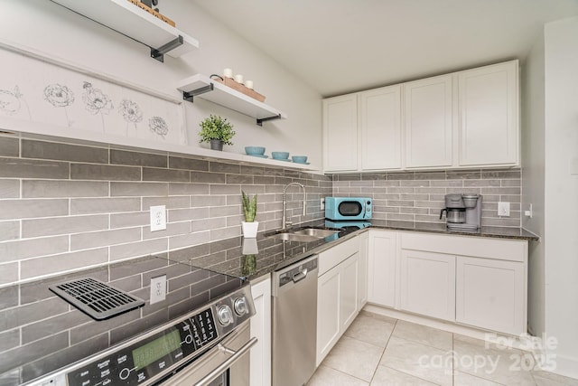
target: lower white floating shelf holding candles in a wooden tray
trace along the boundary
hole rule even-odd
[[[182,91],[183,99],[191,102],[194,98],[209,100],[225,108],[256,118],[256,123],[259,126],[266,120],[287,118],[284,112],[248,97],[218,81],[211,80],[205,75],[197,74],[184,79],[179,82],[177,89]]]

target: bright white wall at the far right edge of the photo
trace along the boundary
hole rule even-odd
[[[545,25],[545,326],[578,378],[578,17]],[[577,169],[575,165],[574,169]]]

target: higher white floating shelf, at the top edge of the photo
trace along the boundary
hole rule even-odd
[[[199,41],[166,24],[127,0],[51,0],[117,33],[151,48],[151,56],[178,58],[199,48]]]

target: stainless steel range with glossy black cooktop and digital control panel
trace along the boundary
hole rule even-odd
[[[244,278],[147,257],[0,288],[0,298],[2,385],[249,383],[255,307]]]

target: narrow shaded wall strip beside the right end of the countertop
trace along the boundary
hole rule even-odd
[[[522,216],[522,226],[541,236],[529,245],[528,325],[537,336],[545,332],[545,84],[544,33],[540,33],[521,71],[522,83],[522,213],[532,204],[532,218]]]

